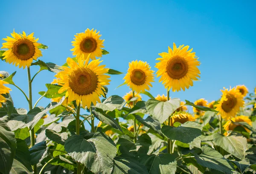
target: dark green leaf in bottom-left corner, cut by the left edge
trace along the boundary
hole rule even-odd
[[[15,157],[16,139],[15,134],[5,122],[0,120],[0,173],[9,174]]]

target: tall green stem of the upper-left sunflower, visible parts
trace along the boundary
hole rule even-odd
[[[31,75],[30,75],[30,68],[27,67],[27,72],[28,72],[28,82],[29,82],[29,110],[32,110],[32,81],[31,81]],[[35,145],[35,130],[32,128],[30,131],[30,146],[31,148]],[[36,164],[33,165],[33,171],[35,174],[37,174],[37,166]]]

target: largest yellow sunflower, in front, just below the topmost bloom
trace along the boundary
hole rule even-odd
[[[63,71],[59,72],[55,77],[55,81],[61,84],[61,89],[58,93],[66,91],[67,102],[70,103],[76,100],[78,105],[80,102],[83,107],[90,107],[91,103],[95,105],[96,102],[101,102],[99,97],[104,95],[105,88],[103,85],[109,84],[110,76],[105,75],[108,68],[105,65],[99,65],[102,61],[96,59],[89,64],[89,56],[84,62],[84,55],[78,57],[78,63],[72,58],[67,58],[69,67],[61,67]]]

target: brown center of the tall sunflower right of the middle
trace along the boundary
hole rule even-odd
[[[183,78],[189,70],[189,65],[185,58],[175,55],[171,58],[166,65],[166,72],[170,78],[180,79]]]

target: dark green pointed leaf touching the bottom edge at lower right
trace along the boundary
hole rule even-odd
[[[199,156],[195,154],[195,159],[199,165],[228,174],[233,173],[234,167],[231,162],[225,159],[218,151],[207,146],[203,146],[201,149],[203,154]]]

